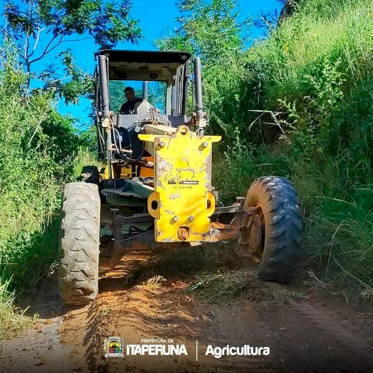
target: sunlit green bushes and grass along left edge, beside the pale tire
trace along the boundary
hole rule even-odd
[[[1,55],[0,323],[11,325],[0,334],[6,334],[21,325],[8,312],[13,291],[33,287],[56,260],[61,185],[71,179],[79,138],[50,93],[23,95],[27,77],[11,45]]]

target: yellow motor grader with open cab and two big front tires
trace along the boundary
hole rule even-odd
[[[212,146],[221,137],[208,134],[200,60],[186,52],[110,49],[96,52],[95,60],[95,126],[106,167],[101,174],[86,168],[81,182],[65,186],[58,271],[63,300],[95,299],[102,237],[113,241],[111,268],[125,260],[129,239],[151,237],[156,247],[228,237],[236,240],[237,255],[257,263],[258,277],[289,281],[302,229],[296,191],[284,178],[261,177],[246,196],[221,203],[211,183]],[[143,82],[143,99],[123,114],[111,89],[129,81]],[[164,85],[163,112],[147,99],[148,82]]]

